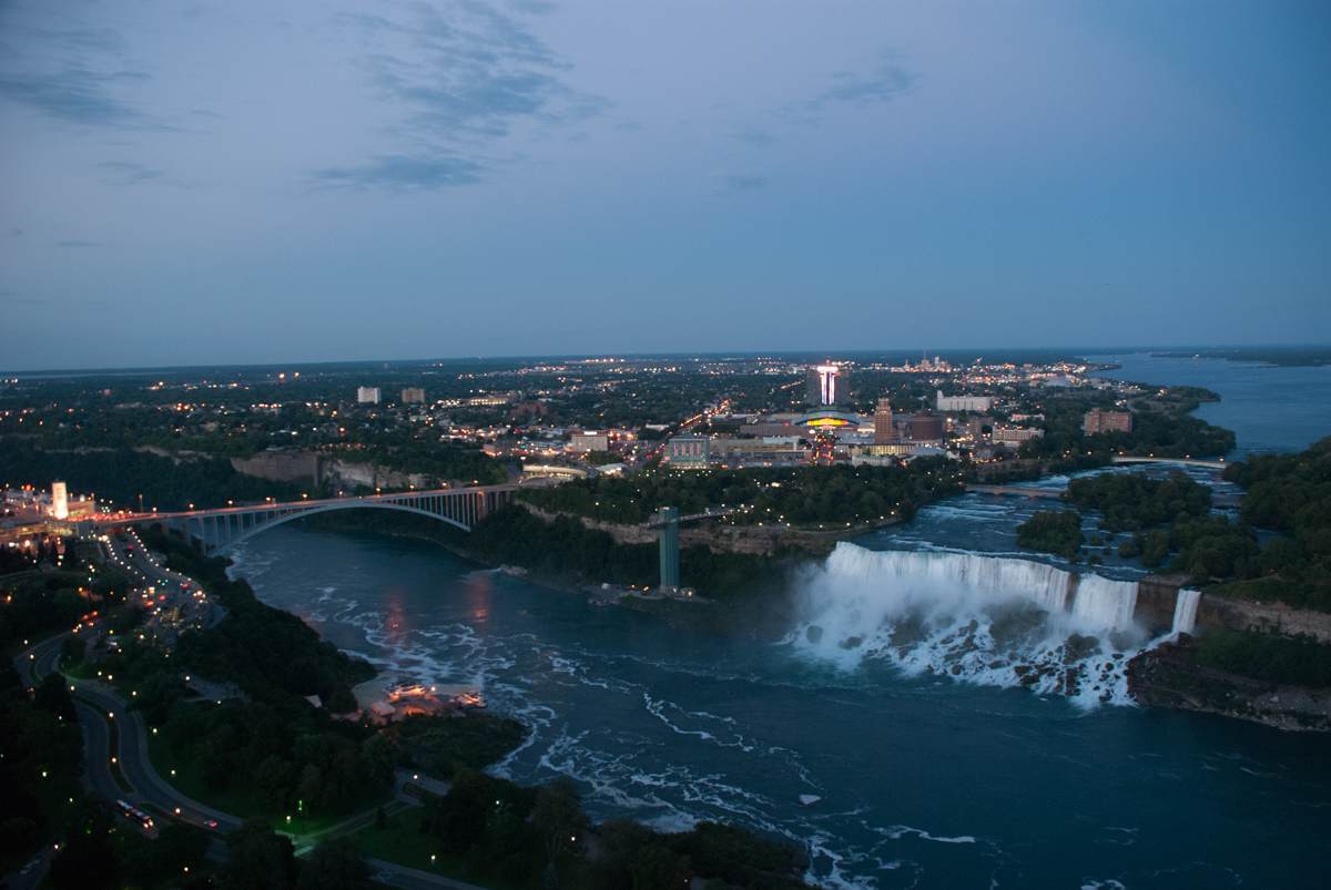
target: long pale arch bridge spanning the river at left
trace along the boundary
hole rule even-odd
[[[516,486],[484,486],[479,488],[442,488],[438,491],[407,491],[394,495],[363,495],[359,498],[330,498],[326,500],[297,500],[287,504],[248,504],[218,510],[190,510],[174,514],[117,514],[98,518],[95,525],[112,528],[134,523],[161,523],[165,528],[178,528],[189,543],[198,541],[202,552],[217,555],[236,544],[301,516],[313,516],[333,510],[401,510],[430,516],[470,532],[473,525],[504,507]]]

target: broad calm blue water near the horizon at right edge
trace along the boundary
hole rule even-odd
[[[1205,386],[1221,402],[1194,414],[1234,430],[1238,447],[1227,460],[1266,451],[1303,451],[1331,435],[1331,366],[1272,367],[1214,358],[1157,358],[1147,353],[1087,355],[1091,362],[1122,365],[1101,376],[1157,386]]]

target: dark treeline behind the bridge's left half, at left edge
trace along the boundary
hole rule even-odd
[[[270,482],[246,476],[225,458],[184,458],[176,463],[146,451],[117,448],[85,454],[49,452],[7,436],[0,439],[0,483],[49,490],[52,480],[64,479],[71,494],[96,494],[117,507],[160,511],[225,507],[229,502],[258,503],[299,500],[318,496],[319,490],[294,482]]]

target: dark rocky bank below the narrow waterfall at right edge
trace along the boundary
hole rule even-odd
[[[1223,714],[1276,729],[1331,732],[1331,690],[1275,686],[1203,668],[1187,635],[1129,661],[1127,690],[1143,705]]]

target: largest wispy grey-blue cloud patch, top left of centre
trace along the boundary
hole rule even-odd
[[[610,105],[566,85],[560,76],[568,65],[494,7],[455,0],[442,8],[417,3],[409,11],[401,20],[335,19],[366,45],[358,61],[370,88],[395,112],[386,136],[398,150],[315,178],[401,188],[405,173],[413,188],[474,182],[499,162],[495,144],[520,124],[539,134]]]

